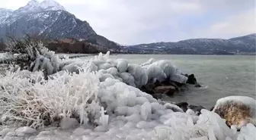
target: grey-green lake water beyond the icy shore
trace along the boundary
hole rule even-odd
[[[229,95],[256,98],[256,56],[117,54],[110,58],[124,58],[136,64],[150,58],[169,60],[184,73],[194,73],[203,86],[164,98],[167,101],[187,101],[210,108],[219,98]]]

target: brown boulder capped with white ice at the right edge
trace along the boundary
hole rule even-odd
[[[226,124],[241,129],[248,123],[256,124],[256,101],[253,98],[245,96],[229,96],[220,98],[213,112],[219,114],[226,120]]]

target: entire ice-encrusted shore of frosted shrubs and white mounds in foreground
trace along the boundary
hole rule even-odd
[[[187,77],[169,61],[151,59],[142,65],[129,64],[123,59],[109,59],[109,53],[99,54],[90,61],[60,61],[55,54],[48,55],[49,51],[37,51],[34,51],[36,55],[31,53],[34,61],[21,65],[23,70],[18,68],[1,76],[2,125],[29,126],[2,130],[0,133],[5,139],[256,138],[256,128],[251,123],[237,132],[210,110],[201,110],[197,116],[193,110],[184,112],[138,89],[156,80],[186,82]],[[55,61],[50,61],[52,58]],[[46,64],[45,59],[49,60]],[[35,66],[40,68],[30,68]],[[53,69],[59,72],[54,73],[52,67],[56,66]],[[55,123],[69,131],[59,132],[56,127],[46,129]],[[37,135],[35,129],[44,131]]]

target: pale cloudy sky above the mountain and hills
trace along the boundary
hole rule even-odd
[[[96,33],[125,45],[256,33],[256,0],[56,1]],[[27,2],[0,0],[0,7],[15,10]]]

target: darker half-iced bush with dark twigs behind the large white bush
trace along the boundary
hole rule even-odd
[[[59,70],[58,56],[54,51],[44,47],[40,41],[30,38],[11,40],[8,49],[12,55],[12,64],[18,65],[21,70],[42,70],[45,76]]]

